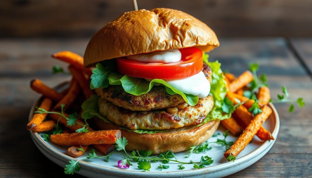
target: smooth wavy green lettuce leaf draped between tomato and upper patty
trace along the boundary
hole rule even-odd
[[[122,75],[120,73],[113,72],[108,77],[108,80],[111,85],[122,85],[122,87],[127,93],[133,94],[135,96],[146,94],[152,89],[154,85],[162,84],[166,87],[166,91],[168,94],[181,95],[184,101],[191,106],[195,106],[198,103],[198,96],[185,94],[173,88],[172,86],[170,86],[167,82],[165,82],[162,79],[153,79],[149,82],[143,78],[131,77],[128,75]]]

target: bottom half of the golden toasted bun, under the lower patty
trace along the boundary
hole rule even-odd
[[[102,119],[95,118],[94,120],[99,129],[119,129],[113,124],[105,123]],[[170,132],[155,134],[121,130],[121,136],[128,140],[126,146],[128,151],[152,150],[153,154],[159,154],[170,150],[176,153],[189,150],[190,147],[205,142],[217,130],[219,123],[219,120],[214,120],[196,128],[182,127],[171,129]]]

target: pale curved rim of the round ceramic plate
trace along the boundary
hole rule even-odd
[[[54,89],[61,89],[63,87],[65,87],[66,85],[68,85],[69,82],[62,82],[58,85],[56,85],[56,87],[54,87]],[[32,118],[35,108],[38,106],[39,101],[42,100],[42,95],[36,100],[36,102],[32,105],[32,108],[30,109],[30,113],[29,113],[29,117],[28,117],[28,121]],[[275,106],[272,103],[269,103],[269,106],[272,108],[272,114],[274,115],[273,118],[275,121],[275,126],[272,132],[272,136],[275,138],[277,138],[278,136],[278,132],[279,132],[279,128],[280,128],[280,118],[279,115],[276,111]],[[43,140],[43,138],[39,135],[38,132],[33,132],[31,130],[29,130],[33,141],[37,141],[38,144],[41,144],[41,147],[45,146],[45,148],[47,148],[49,151],[51,151],[51,153],[53,152],[55,155],[62,157],[63,159],[61,159],[61,161],[65,161],[65,160],[74,160],[77,161],[78,159],[68,156],[64,153],[61,153],[59,151],[57,151],[55,148],[51,147],[50,145],[48,145],[46,143],[46,141]],[[177,171],[149,171],[149,172],[143,172],[143,171],[132,171],[132,170],[122,170],[122,169],[117,169],[117,168],[111,168],[111,167],[106,167],[106,166],[99,166],[99,165],[95,165],[92,163],[89,163],[87,161],[83,161],[80,160],[79,161],[79,165],[82,168],[86,168],[86,169],[96,169],[100,172],[110,172],[113,173],[115,175],[129,175],[129,174],[133,174],[135,173],[138,176],[176,176],[176,173],[183,173],[185,174],[184,176],[195,176],[195,175],[200,175],[203,173],[212,173],[212,172],[217,172],[223,169],[227,169],[236,165],[240,165],[242,163],[244,163],[245,161],[248,161],[251,159],[251,157],[254,156],[254,154],[258,155],[259,152],[263,152],[264,150],[272,147],[272,145],[274,144],[275,140],[266,140],[265,142],[262,143],[261,146],[259,146],[258,148],[256,148],[254,151],[241,156],[239,158],[237,158],[235,160],[236,164],[233,164],[232,161],[229,162],[225,162],[222,164],[218,164],[218,165],[214,165],[214,166],[207,166],[205,168],[201,168],[201,169],[194,169],[194,170],[177,170]],[[36,145],[36,144],[35,144]],[[36,145],[37,146],[37,145]],[[37,146],[38,147],[38,146]],[[265,155],[265,154],[264,154]],[[263,155],[263,156],[264,156]],[[261,156],[262,157],[262,156]],[[65,159],[65,160],[64,160]],[[261,159],[261,158],[259,158]],[[51,159],[50,159],[51,160]],[[54,161],[53,161],[54,162]],[[238,170],[239,171],[239,170]],[[79,172],[76,172],[78,173]]]

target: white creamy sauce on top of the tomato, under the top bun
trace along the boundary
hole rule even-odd
[[[149,54],[137,54],[129,55],[128,59],[137,60],[140,62],[161,62],[161,63],[172,63],[181,60],[181,52],[177,49],[158,51]]]

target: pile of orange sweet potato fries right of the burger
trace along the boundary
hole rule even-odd
[[[266,86],[260,87],[256,92],[262,112],[253,116],[248,109],[252,107],[255,100],[243,96],[244,89],[247,89],[246,85],[254,79],[251,72],[247,70],[238,78],[231,73],[224,75],[228,88],[227,97],[234,105],[238,104],[238,102],[243,103],[235,108],[231,118],[221,121],[221,124],[233,135],[239,136],[236,142],[224,153],[224,157],[227,158],[230,154],[236,157],[255,135],[263,141],[274,140],[274,137],[262,127],[262,124],[272,113],[272,109],[268,106],[271,99],[269,88]]]

